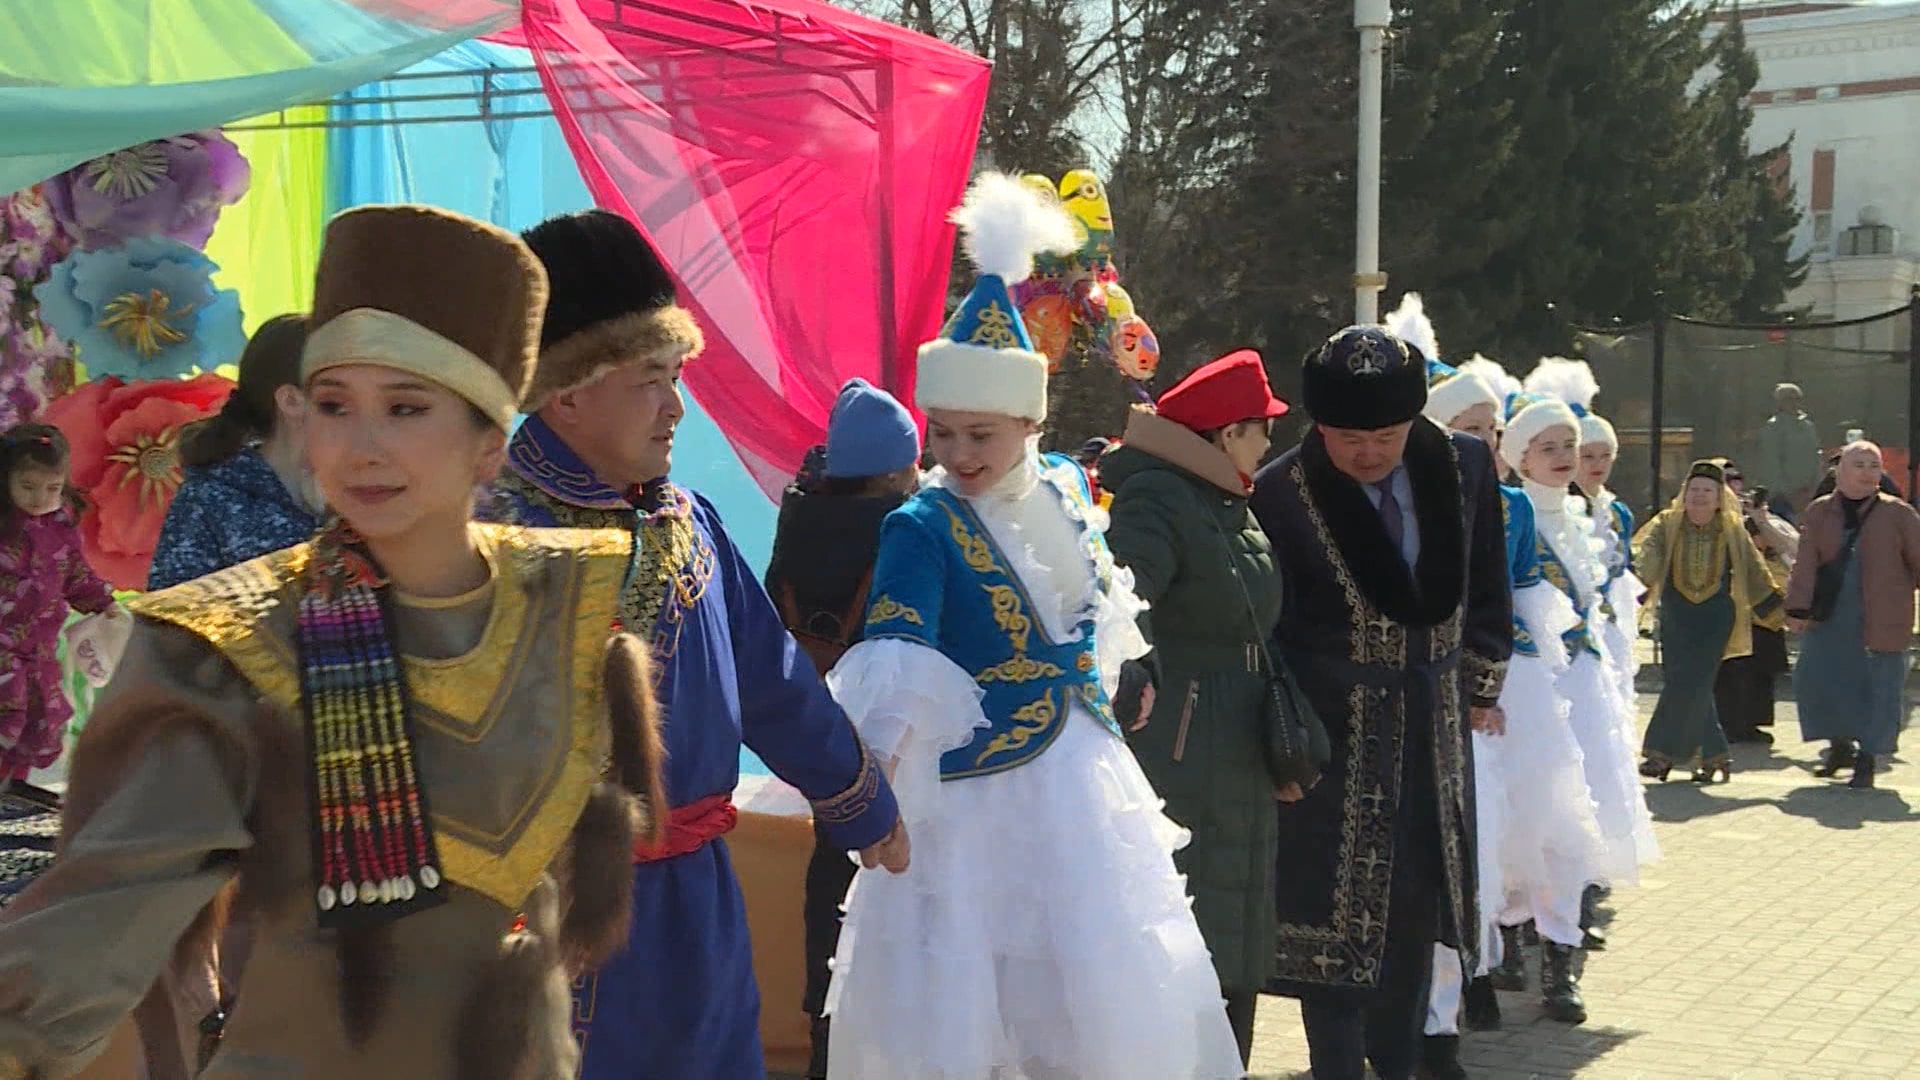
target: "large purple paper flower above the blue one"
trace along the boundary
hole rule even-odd
[[[219,131],[177,135],[115,150],[46,183],[54,213],[83,248],[169,236],[205,248],[221,208],[253,179],[240,148]]]

